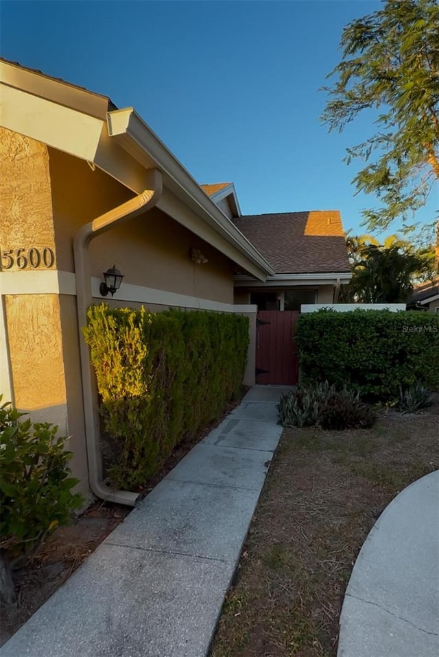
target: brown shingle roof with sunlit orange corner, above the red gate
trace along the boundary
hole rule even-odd
[[[252,214],[233,221],[278,274],[351,271],[338,210]]]

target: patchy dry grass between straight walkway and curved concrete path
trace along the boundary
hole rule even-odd
[[[335,657],[344,591],[385,506],[439,468],[439,405],[370,430],[285,430],[211,657]]]

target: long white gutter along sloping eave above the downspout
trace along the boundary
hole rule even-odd
[[[274,274],[272,266],[261,256],[250,241],[237,229],[228,217],[217,208],[200,185],[167,149],[150,127],[134,112],[133,108],[108,112],[108,133],[138,162],[163,172],[165,184],[199,216],[222,234],[238,251],[244,254],[261,271],[265,280]],[[160,207],[160,203],[158,203]]]

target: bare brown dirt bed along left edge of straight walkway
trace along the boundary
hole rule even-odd
[[[165,475],[198,443],[209,434],[233,408],[239,405],[248,391],[243,386],[239,400],[228,404],[215,422],[196,436],[189,436],[163,463],[153,478],[141,486],[147,495]],[[18,602],[0,606],[0,646],[8,641],[21,625],[72,575],[82,562],[104,541],[119,523],[126,518],[130,508],[110,504],[102,500],[93,503],[78,519],[67,527],[60,527],[40,546],[32,562],[14,573]]]

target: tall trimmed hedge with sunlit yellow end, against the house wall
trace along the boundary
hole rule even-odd
[[[143,484],[240,391],[247,317],[102,304],[88,309],[84,336],[110,436],[108,476],[115,487]]]

